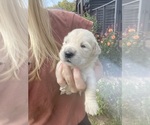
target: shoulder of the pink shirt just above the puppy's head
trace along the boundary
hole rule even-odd
[[[62,43],[64,37],[73,29],[83,28],[90,30],[93,23],[80,15],[59,9],[48,9],[54,38]]]

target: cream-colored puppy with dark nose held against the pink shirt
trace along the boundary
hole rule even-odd
[[[75,29],[64,38],[60,50],[60,61],[72,68],[80,69],[87,85],[85,90],[85,110],[91,115],[96,115],[98,104],[96,102],[96,77],[94,66],[98,60],[101,49],[92,32],[85,29]],[[56,77],[57,68],[56,68]],[[71,94],[67,87],[60,89],[62,94]]]

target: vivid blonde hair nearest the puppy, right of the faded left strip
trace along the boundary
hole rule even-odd
[[[51,69],[55,68],[58,60],[58,47],[52,35],[48,10],[43,7],[42,0],[29,0],[28,21],[32,67],[29,79],[33,80],[40,78],[38,70],[45,59],[51,59]]]

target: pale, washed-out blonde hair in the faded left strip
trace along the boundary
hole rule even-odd
[[[22,0],[0,1],[0,34],[2,47],[0,57],[5,60],[5,70],[0,73],[0,81],[18,78],[18,71],[28,58],[27,9]],[[19,78],[18,78],[19,79]]]

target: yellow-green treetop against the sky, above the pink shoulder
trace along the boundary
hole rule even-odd
[[[54,5],[53,8],[61,8],[67,11],[75,11],[76,3],[69,2],[68,0],[62,0],[62,2],[58,2],[57,5]]]

